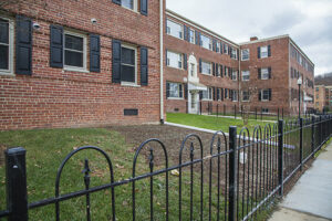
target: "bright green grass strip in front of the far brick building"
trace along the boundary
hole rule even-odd
[[[205,129],[222,130],[225,133],[229,131],[229,126],[237,126],[238,134],[245,126],[242,119],[234,119],[226,117],[214,117],[194,114],[183,114],[183,113],[167,113],[167,122],[183,124],[187,126],[200,127]],[[252,134],[256,126],[260,125],[262,129],[268,123],[261,120],[249,119],[248,129]],[[271,124],[272,126],[272,124]]]

